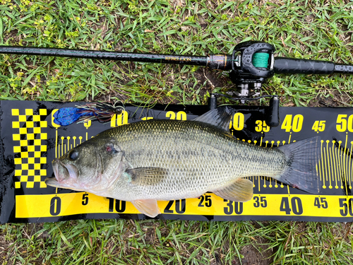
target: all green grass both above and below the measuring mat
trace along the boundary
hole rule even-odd
[[[349,1],[0,0],[0,44],[205,55],[242,40],[352,63]],[[352,106],[352,76],[277,75],[285,106]],[[0,100],[194,104],[235,86],[196,66],[0,55]],[[265,101],[261,104],[266,104]],[[353,264],[352,224],[75,220],[0,225],[1,264]],[[242,262],[242,263],[241,263]]]

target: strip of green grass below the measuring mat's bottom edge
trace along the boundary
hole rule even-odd
[[[2,227],[3,264],[239,264],[239,257],[256,261],[250,264],[352,264],[352,224],[75,220]]]

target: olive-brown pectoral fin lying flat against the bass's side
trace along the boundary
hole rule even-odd
[[[167,177],[167,170],[161,167],[137,167],[125,171],[131,182],[136,185],[154,185]]]

